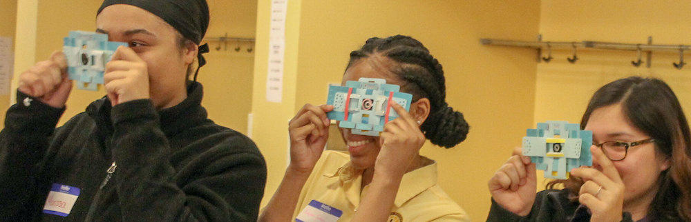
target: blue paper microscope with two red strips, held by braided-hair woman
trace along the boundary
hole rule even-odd
[[[392,102],[410,110],[413,95],[399,90],[399,85],[386,84],[386,79],[360,78],[345,86],[330,85],[326,103],[334,105],[334,110],[327,116],[340,121],[340,128],[352,129],[352,134],[379,137],[384,124],[398,117]]]

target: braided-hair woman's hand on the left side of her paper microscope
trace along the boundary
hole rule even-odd
[[[290,119],[290,170],[307,174],[312,172],[329,139],[331,122],[326,112],[333,109],[333,105],[315,106],[307,103]]]

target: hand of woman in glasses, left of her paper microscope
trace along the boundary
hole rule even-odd
[[[535,203],[537,179],[536,166],[530,157],[521,154],[521,148],[513,150],[513,156],[489,179],[492,199],[502,208],[525,216]]]

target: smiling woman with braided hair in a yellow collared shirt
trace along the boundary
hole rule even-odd
[[[426,139],[451,148],[468,133],[463,114],[445,101],[442,65],[411,37],[371,38],[350,53],[342,84],[361,77],[386,79],[413,94],[410,111],[393,103],[400,117],[386,123],[380,137],[340,128],[348,155],[323,151],[326,112],[333,106],[304,105],[288,126],[290,165],[259,220],[304,220],[327,212],[334,221],[468,221],[436,184],[436,162],[419,155]]]

